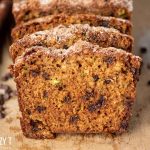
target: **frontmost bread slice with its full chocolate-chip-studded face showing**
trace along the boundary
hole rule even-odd
[[[24,135],[126,131],[140,64],[131,53],[85,41],[26,50],[11,66]]]

